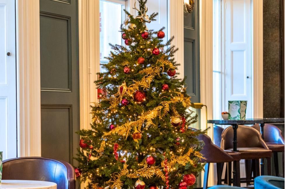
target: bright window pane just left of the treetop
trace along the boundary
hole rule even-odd
[[[123,8],[122,4],[100,0],[100,63],[107,62],[104,57],[110,54],[109,43],[122,44],[119,29],[122,23]]]

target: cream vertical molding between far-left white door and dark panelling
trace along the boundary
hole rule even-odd
[[[41,156],[39,0],[16,0],[18,157]]]

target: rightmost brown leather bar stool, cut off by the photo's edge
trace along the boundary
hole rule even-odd
[[[259,124],[252,125],[254,129],[260,132]],[[282,152],[283,163],[283,177],[285,170],[284,154],[285,154],[285,141],[282,136],[282,131],[275,125],[264,124],[264,142],[270,150],[272,150],[274,158],[275,176],[279,176],[278,169],[278,152]]]

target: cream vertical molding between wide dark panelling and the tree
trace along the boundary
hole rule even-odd
[[[94,81],[100,71],[99,1],[79,1],[80,128],[90,129],[90,105],[97,101]]]

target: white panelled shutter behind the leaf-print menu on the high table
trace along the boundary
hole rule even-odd
[[[225,0],[225,109],[229,100],[247,100],[252,118],[251,0]]]

